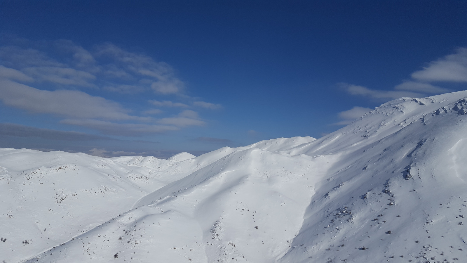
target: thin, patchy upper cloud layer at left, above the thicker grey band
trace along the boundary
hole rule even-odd
[[[50,58],[43,51],[4,46],[0,47],[0,64],[39,82],[55,83],[64,88],[68,85],[100,86],[106,91],[125,94],[150,89],[162,95],[184,92],[184,82],[176,77],[170,65],[144,54],[125,51],[114,44],[97,45],[93,52],[70,40],[45,41],[42,45],[68,56],[62,59],[66,63]]]

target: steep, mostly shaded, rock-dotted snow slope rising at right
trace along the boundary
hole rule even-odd
[[[344,154],[316,187],[280,262],[466,261],[466,95],[388,102],[294,149],[322,152],[328,142],[331,155]],[[389,120],[381,117],[388,113]],[[349,132],[354,136],[343,140]]]

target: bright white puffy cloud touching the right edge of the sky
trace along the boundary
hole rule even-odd
[[[430,62],[423,70],[412,73],[411,77],[426,82],[467,82],[467,48],[458,48],[455,54]]]

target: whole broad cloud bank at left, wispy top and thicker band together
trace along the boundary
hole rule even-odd
[[[145,93],[146,101],[169,95],[182,100],[151,99],[153,107],[220,107],[210,102],[193,102],[197,99],[184,95],[184,81],[167,63],[114,44],[95,45],[87,50],[70,40],[17,43],[22,46],[0,47],[0,101],[7,107],[52,114],[61,118],[61,124],[124,136],[177,131],[202,126],[205,121],[193,110],[183,110],[175,116],[163,116],[165,112],[151,107],[133,110],[129,103],[122,105],[107,99],[109,94],[113,99],[119,94]],[[21,134],[19,129],[15,131]]]

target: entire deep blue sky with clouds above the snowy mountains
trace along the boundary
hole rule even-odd
[[[195,155],[466,89],[465,1],[1,1],[0,147]]]

